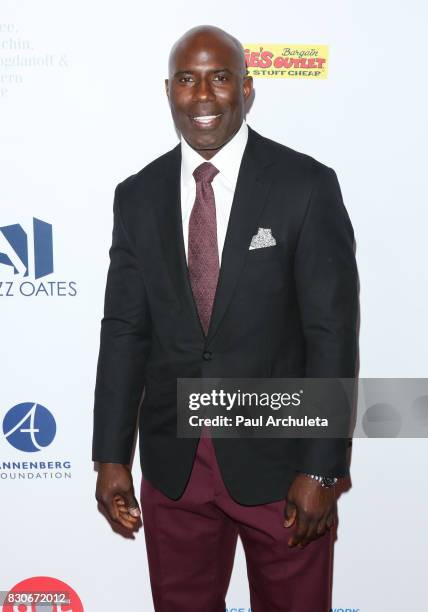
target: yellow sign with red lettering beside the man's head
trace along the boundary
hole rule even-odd
[[[248,74],[268,79],[326,79],[327,45],[246,44]]]

